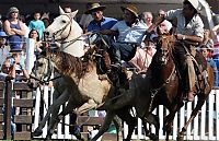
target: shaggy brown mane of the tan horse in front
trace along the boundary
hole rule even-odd
[[[87,72],[93,68],[93,55],[94,49],[89,49],[88,52],[79,58],[65,51],[50,52],[51,60],[60,69],[64,75],[76,74],[78,79],[81,79]]]

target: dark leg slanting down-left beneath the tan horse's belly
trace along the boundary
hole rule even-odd
[[[113,118],[115,117],[115,113],[112,110],[108,110],[106,113],[105,119],[101,128],[99,129],[99,132],[95,134],[91,141],[96,141],[104,132],[106,132],[111,126],[111,122],[113,121]]]

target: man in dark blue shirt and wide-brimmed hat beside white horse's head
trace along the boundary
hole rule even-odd
[[[93,16],[93,21],[88,25],[88,32],[110,30],[117,23],[117,20],[113,17],[103,16],[103,11],[105,9],[106,7],[100,5],[100,3],[91,4],[91,8],[85,12],[85,14],[91,14]]]

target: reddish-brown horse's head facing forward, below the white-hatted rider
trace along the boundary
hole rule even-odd
[[[172,57],[172,49],[175,44],[173,35],[159,35],[157,38],[157,63],[166,64]]]

